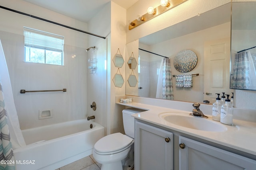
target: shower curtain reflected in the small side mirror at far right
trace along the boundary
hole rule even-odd
[[[231,88],[250,89],[253,86],[251,80],[255,76],[255,68],[250,51],[236,53]]]

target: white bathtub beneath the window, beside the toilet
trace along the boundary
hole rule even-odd
[[[104,127],[80,119],[25,129],[22,135],[26,146],[14,149],[16,170],[55,170],[92,154]]]

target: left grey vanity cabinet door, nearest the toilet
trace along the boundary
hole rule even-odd
[[[135,123],[135,170],[172,170],[173,135],[168,131]]]

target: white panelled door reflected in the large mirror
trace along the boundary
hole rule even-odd
[[[230,37],[204,43],[204,100],[216,101],[216,93],[230,94]]]

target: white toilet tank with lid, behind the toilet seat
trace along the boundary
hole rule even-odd
[[[135,109],[135,108],[127,108],[124,109],[123,112],[123,122],[124,122],[124,132],[129,137],[134,139],[134,117],[131,115],[134,113],[139,113],[144,110]]]

